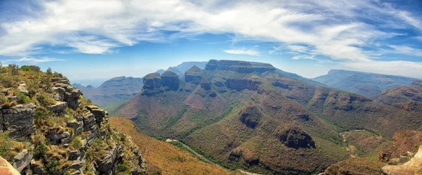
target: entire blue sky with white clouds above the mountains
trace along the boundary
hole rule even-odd
[[[3,65],[93,82],[210,59],[422,78],[422,1],[0,0]]]

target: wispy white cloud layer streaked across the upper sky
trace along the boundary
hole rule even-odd
[[[407,35],[403,29],[422,38],[421,17],[382,1],[41,0],[39,6],[18,20],[0,20],[6,21],[0,25],[1,56],[29,57],[56,46],[115,53],[140,41],[168,42],[204,33],[273,42],[280,46],[271,54],[294,53],[295,60],[325,56],[348,67],[378,64],[385,53],[422,56],[417,46],[389,40]],[[260,55],[248,46],[224,52]],[[405,60],[396,61],[402,62],[388,65],[409,67]],[[421,67],[416,72],[422,73]]]

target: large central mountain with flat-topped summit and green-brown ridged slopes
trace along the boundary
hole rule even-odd
[[[324,171],[350,156],[340,132],[365,129],[390,138],[418,129],[422,120],[419,113],[283,76],[266,63],[210,60],[181,79],[167,71],[148,74],[143,84],[120,106],[122,117],[224,167],[263,174]]]

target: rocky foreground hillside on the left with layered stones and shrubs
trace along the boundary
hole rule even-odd
[[[0,90],[0,157],[20,174],[146,174],[132,138],[62,74],[0,67]]]

